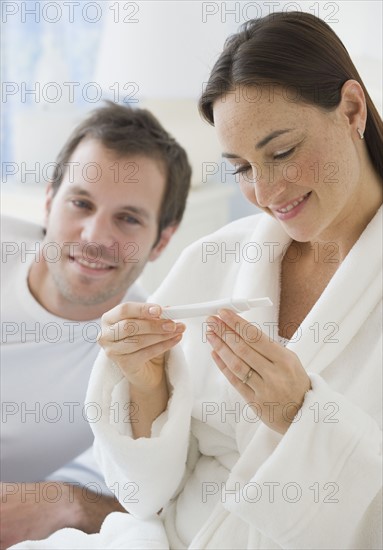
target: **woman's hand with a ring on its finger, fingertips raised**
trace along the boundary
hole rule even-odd
[[[261,420],[284,434],[311,388],[295,353],[230,310],[208,319],[212,357]]]

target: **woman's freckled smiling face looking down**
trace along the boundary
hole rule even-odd
[[[359,137],[345,108],[327,112],[293,101],[288,90],[242,87],[214,103],[214,123],[243,194],[293,239],[347,231],[363,186]]]

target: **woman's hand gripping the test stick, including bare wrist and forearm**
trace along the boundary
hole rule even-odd
[[[120,304],[102,316],[99,342],[130,383],[136,416],[132,435],[150,437],[153,421],[166,409],[169,389],[165,353],[178,344],[185,325],[160,319],[155,304]]]

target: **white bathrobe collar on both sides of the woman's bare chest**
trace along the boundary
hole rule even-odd
[[[251,241],[242,243],[243,261],[233,292],[241,298],[270,297],[272,308],[253,309],[242,316],[274,336],[278,333],[281,261],[290,243],[291,238],[277,220],[262,216]],[[320,373],[363,325],[381,296],[381,266],[382,207],[287,346],[307,370]]]

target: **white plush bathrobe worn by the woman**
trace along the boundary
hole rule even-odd
[[[266,214],[238,220],[185,250],[150,301],[269,296],[273,307],[242,316],[276,335],[289,243]],[[101,352],[87,397],[103,410],[96,454],[130,515],[15,548],[381,548],[381,291],[382,209],[287,346],[312,390],[283,436],[218,370],[203,318],[169,354],[172,396],[151,438],[130,437],[127,384]]]

